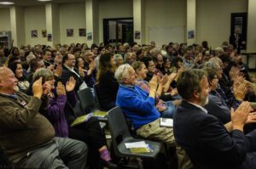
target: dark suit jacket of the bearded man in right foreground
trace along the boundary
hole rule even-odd
[[[183,101],[173,116],[174,137],[197,168],[255,168],[256,132],[228,132],[218,118]],[[253,141],[254,140],[254,141]]]

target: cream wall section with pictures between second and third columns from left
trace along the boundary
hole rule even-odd
[[[60,5],[61,44],[86,42],[86,37],[79,37],[79,29],[85,28],[84,3],[65,3]],[[73,29],[73,37],[67,37],[67,29]]]

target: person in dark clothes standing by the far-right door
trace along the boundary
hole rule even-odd
[[[240,29],[236,28],[235,32],[230,35],[230,44],[237,49],[237,54],[241,53],[241,48],[246,44],[244,37],[240,33]]]

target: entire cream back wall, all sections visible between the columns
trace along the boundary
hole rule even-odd
[[[94,13],[98,23],[96,34],[98,42],[103,42],[103,19],[132,18],[133,1],[131,0],[98,0]],[[149,27],[186,26],[187,0],[144,0],[144,43],[148,43]],[[212,48],[217,48],[230,36],[230,14],[247,12],[248,0],[197,0],[195,42],[206,40]],[[60,4],[60,39],[61,44],[86,42],[86,37],[79,37],[79,28],[85,28],[84,3]],[[26,44],[45,44],[47,38],[42,37],[46,29],[45,8],[33,6],[24,8]],[[4,23],[4,24],[3,24]],[[74,37],[67,37],[67,28],[74,29]],[[0,8],[0,31],[10,31],[9,8]],[[31,37],[31,31],[38,30],[38,38]],[[170,39],[172,42],[172,39]]]

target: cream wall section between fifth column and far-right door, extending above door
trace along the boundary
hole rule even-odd
[[[212,48],[229,41],[231,13],[247,12],[248,4],[247,0],[197,0],[196,3],[195,41],[208,41]]]

